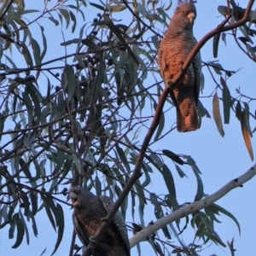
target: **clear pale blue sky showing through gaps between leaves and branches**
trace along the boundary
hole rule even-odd
[[[35,6],[35,1],[26,0],[26,9],[41,9],[44,5],[44,1],[36,1],[38,6]],[[39,3],[42,2],[42,3]],[[69,1],[72,2],[72,1]],[[95,1],[96,3],[97,1]],[[169,10],[169,14],[172,16],[173,7],[177,1],[172,1],[172,9]],[[245,7],[248,1],[241,0],[240,6]],[[198,0],[197,7],[197,19],[195,20],[195,38],[198,40],[202,38],[207,32],[212,30],[214,27],[223,20],[223,17],[218,14],[218,5],[225,5],[225,0]],[[256,6],[254,6],[255,9]],[[86,21],[92,20],[96,14],[90,12],[84,14]],[[125,17],[124,17],[125,20]],[[60,46],[60,42],[63,41],[60,26],[54,27],[52,23],[47,20],[38,20],[38,22],[44,26],[46,35],[51,37],[51,44],[48,45],[48,55],[44,61],[48,61],[54,57],[65,55],[65,49]],[[37,27],[37,26],[34,26]],[[78,26],[80,27],[80,26]],[[35,32],[35,30],[33,31]],[[66,40],[79,37],[79,30],[73,35],[70,29],[65,31],[63,29]],[[38,34],[38,40],[41,36]],[[221,41],[219,44],[218,58],[214,59],[212,55],[212,40],[210,40],[201,49],[202,61],[216,61],[222,64],[222,66],[228,70],[241,70],[233,75],[228,80],[228,86],[232,96],[236,96],[236,88],[241,88],[241,92],[245,95],[255,97],[255,63],[250,61],[246,55],[244,55],[240,49],[236,46],[233,38],[227,37],[227,46]],[[16,61],[18,64],[18,61]],[[25,67],[25,64],[22,66]],[[212,90],[215,88],[215,84],[212,81],[207,68],[203,68],[205,76],[205,90],[203,96],[209,96]],[[219,80],[216,75],[216,79]],[[160,80],[160,78],[159,78]],[[55,81],[56,82],[56,81]],[[152,84],[150,77],[147,80],[147,86]],[[39,83],[40,84],[40,83]],[[147,87],[145,86],[145,87]],[[220,96],[220,92],[218,91]],[[208,112],[212,115],[212,98],[201,98],[201,102],[207,108]],[[222,102],[221,109],[222,109]],[[252,111],[255,108],[255,104],[251,105]],[[168,112],[166,115],[166,131],[168,131],[172,124],[175,122],[175,112]],[[255,121],[250,120],[252,130],[255,126]],[[149,125],[149,123],[148,123]],[[6,128],[8,129],[8,127]],[[197,166],[202,172],[202,180],[204,183],[205,193],[211,195],[216,190],[220,189],[225,183],[228,183],[231,179],[240,176],[243,172],[246,172],[253,162],[247,153],[247,148],[244,144],[243,137],[241,135],[241,125],[236,119],[235,113],[231,112],[230,125],[224,125],[225,136],[221,137],[218,134],[218,130],[214,123],[213,118],[202,119],[201,129],[195,132],[189,133],[178,133],[177,131],[171,132],[163,141],[156,143],[153,147],[155,150],[169,149],[176,154],[188,154],[193,157],[196,161]],[[142,131],[140,137],[145,135],[145,131]],[[255,138],[252,138],[253,149],[255,148]],[[191,172],[189,167],[183,167],[183,171],[186,172],[189,178],[183,178],[177,176],[175,167],[171,161],[166,161],[166,164],[170,164],[173,176],[176,182],[177,189],[177,200],[178,202],[185,203],[187,201],[193,201],[196,191],[195,176]],[[159,173],[154,172],[154,180],[150,183],[147,189],[152,189],[152,192],[157,195],[166,194],[167,190],[162,185],[163,179]],[[142,177],[143,180],[143,177]],[[224,207],[226,210],[233,213],[238,222],[241,224],[241,236],[237,230],[236,224],[227,217],[221,216],[218,218],[222,224],[216,225],[216,231],[224,242],[231,241],[235,237],[235,248],[237,255],[254,255],[255,254],[255,238],[256,238],[256,224],[254,221],[256,212],[256,178],[246,183],[243,188],[235,189],[226,195],[221,200],[217,201],[217,204]],[[63,198],[64,200],[64,198]],[[145,223],[154,220],[154,212],[152,208],[148,207],[147,217]],[[55,255],[67,255],[69,252],[70,241],[73,230],[73,223],[71,221],[72,210],[68,207],[64,207],[65,211],[65,233],[61,246]],[[50,255],[55,246],[56,234],[49,224],[44,211],[41,211],[37,215],[38,224],[38,238],[35,238],[32,233],[30,236],[30,245],[26,245],[26,241],[17,249],[11,249],[12,245],[15,244],[15,239],[9,240],[8,228],[1,230],[0,233],[0,255],[40,255],[44,248],[47,247],[47,251],[44,255]],[[130,212],[127,213],[127,222],[132,222]],[[139,218],[136,219],[139,222]],[[29,226],[29,224],[28,224]],[[129,234],[130,237],[132,234]],[[191,232],[185,232],[182,236],[183,240],[187,243],[193,240],[194,230]],[[154,255],[151,247],[143,246],[143,255]],[[137,256],[137,249],[134,248],[131,251],[132,256]],[[148,254],[150,252],[150,254]],[[230,255],[228,248],[212,246],[207,250],[201,252],[201,255],[211,255],[216,253],[218,256]]]

